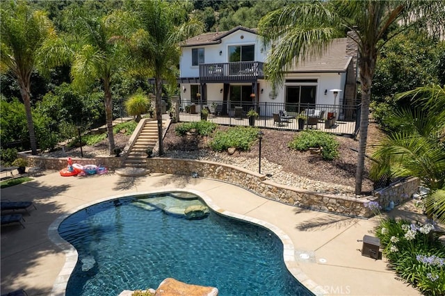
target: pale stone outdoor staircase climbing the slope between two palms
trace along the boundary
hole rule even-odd
[[[156,120],[147,120],[127,153],[124,167],[145,167],[147,163],[147,153],[145,151],[147,151],[147,148],[154,149],[157,142],[157,122]]]

